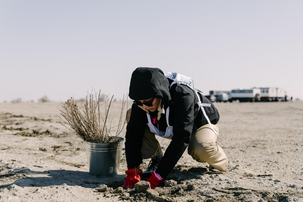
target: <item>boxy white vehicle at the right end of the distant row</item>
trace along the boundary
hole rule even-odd
[[[284,88],[266,87],[261,89],[261,101],[287,101]]]

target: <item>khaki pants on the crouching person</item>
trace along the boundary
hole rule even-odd
[[[129,121],[130,115],[131,109],[129,109],[126,114],[127,123]],[[226,171],[228,159],[223,149],[217,144],[219,136],[218,124],[212,124],[212,126],[218,135],[212,131],[209,124],[199,127],[191,134],[187,149],[188,154],[198,162],[208,163],[215,169]],[[156,134],[152,133],[149,130],[149,127],[146,125],[141,148],[142,159],[148,159],[153,156],[163,155],[160,144],[155,138],[155,135]]]

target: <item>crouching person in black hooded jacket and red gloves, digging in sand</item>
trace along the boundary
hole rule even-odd
[[[191,85],[191,81],[187,84]],[[128,170],[123,188],[133,188],[141,180],[140,175],[145,174],[150,176],[147,181],[154,189],[187,147],[188,154],[198,162],[207,162],[210,170],[227,170],[228,159],[217,144],[218,110],[192,88],[165,77],[158,68],[140,67],[132,73],[128,95],[135,101],[126,118]],[[155,135],[171,139],[164,154]],[[150,164],[143,172],[139,168],[142,159],[149,158]]]

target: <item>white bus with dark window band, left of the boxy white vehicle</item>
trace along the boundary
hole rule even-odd
[[[255,102],[261,100],[261,89],[233,89],[231,90],[231,99],[239,102]]]

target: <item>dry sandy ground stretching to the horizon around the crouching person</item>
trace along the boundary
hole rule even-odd
[[[81,139],[58,122],[58,104],[0,103],[0,201],[303,201],[303,102],[215,103],[228,171],[210,172],[186,151],[153,191],[121,190],[124,150],[118,175],[89,174]]]

